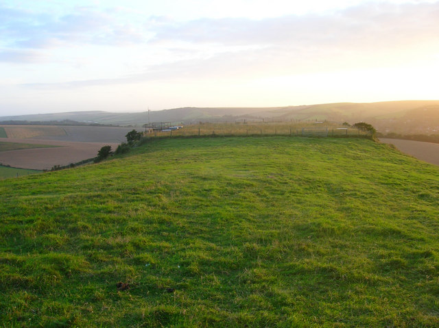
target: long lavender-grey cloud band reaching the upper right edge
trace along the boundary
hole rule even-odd
[[[221,45],[370,47],[438,40],[439,3],[366,3],[331,15],[307,14],[250,20],[201,18],[162,25],[154,42],[186,41]]]

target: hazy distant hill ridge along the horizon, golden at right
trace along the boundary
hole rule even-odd
[[[104,111],[0,116],[0,121],[77,121],[88,124],[141,126],[148,121],[172,123],[257,121],[366,121],[381,132],[439,134],[439,100],[377,103],[324,103],[272,108],[174,108],[137,113]]]

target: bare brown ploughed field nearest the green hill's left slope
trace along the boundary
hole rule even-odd
[[[107,144],[111,146],[112,151],[118,146],[115,142],[69,142],[47,139],[4,138],[1,141],[58,146],[0,152],[1,164],[35,170],[50,170],[55,165],[65,166],[96,157],[97,151]]]

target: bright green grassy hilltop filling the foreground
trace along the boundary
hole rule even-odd
[[[278,136],[0,181],[0,326],[438,327],[438,177]]]

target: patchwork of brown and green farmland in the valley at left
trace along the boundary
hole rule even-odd
[[[14,168],[49,170],[67,166],[97,155],[110,145],[114,151],[132,128],[93,126],[2,125],[0,142],[14,147],[0,147],[0,163]],[[25,144],[16,147],[16,144]],[[32,144],[32,147],[29,147]],[[1,176],[1,175],[0,175]]]

